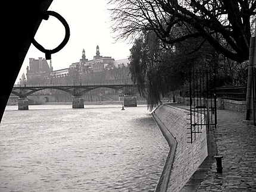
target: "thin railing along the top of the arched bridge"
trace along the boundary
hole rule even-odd
[[[51,84],[14,84],[13,87],[54,87],[54,86],[113,86],[131,85],[132,83],[111,82],[111,83],[51,83]]]

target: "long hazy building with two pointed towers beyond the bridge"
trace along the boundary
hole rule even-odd
[[[86,59],[85,49],[82,58],[69,68],[53,71],[43,58],[29,59],[27,84],[67,84],[67,83],[130,83],[129,59],[115,61],[111,56],[101,56],[99,46],[92,60]]]

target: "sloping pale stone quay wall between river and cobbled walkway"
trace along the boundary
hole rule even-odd
[[[160,121],[158,126],[163,134],[169,132],[176,141],[168,140],[164,134],[171,149],[156,191],[180,191],[208,155],[205,126],[202,127],[202,133],[196,134],[195,141],[189,143],[190,120],[188,114],[189,111],[186,109],[171,105],[160,105],[152,112],[155,121]],[[170,173],[168,174],[168,172]]]

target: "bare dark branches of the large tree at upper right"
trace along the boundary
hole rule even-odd
[[[199,38],[232,59],[249,58],[249,40],[255,23],[254,0],[109,0],[113,30],[117,38],[136,39],[141,32],[154,32],[158,39],[173,45]],[[176,33],[183,27],[182,33]]]

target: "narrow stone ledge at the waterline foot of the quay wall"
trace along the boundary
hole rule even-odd
[[[155,120],[156,124],[158,125],[158,127],[160,128],[164,138],[166,139],[166,141],[170,147],[170,150],[169,150],[169,153],[168,153],[168,156],[166,159],[166,163],[163,168],[163,172],[161,174],[160,179],[158,180],[157,187],[155,188],[156,192],[158,192],[158,191],[164,192],[167,190],[167,185],[168,185],[168,181],[169,181],[170,174],[171,174],[171,168],[173,166],[174,157],[175,157],[176,148],[177,148],[176,139],[173,137],[173,135],[170,133],[170,131],[168,131],[166,125],[163,124],[161,119],[157,117],[157,114],[155,114],[155,110],[158,108],[161,108],[161,106],[163,106],[163,105],[158,105],[157,108],[155,108],[154,111],[151,112],[151,115],[152,115],[153,119]]]

